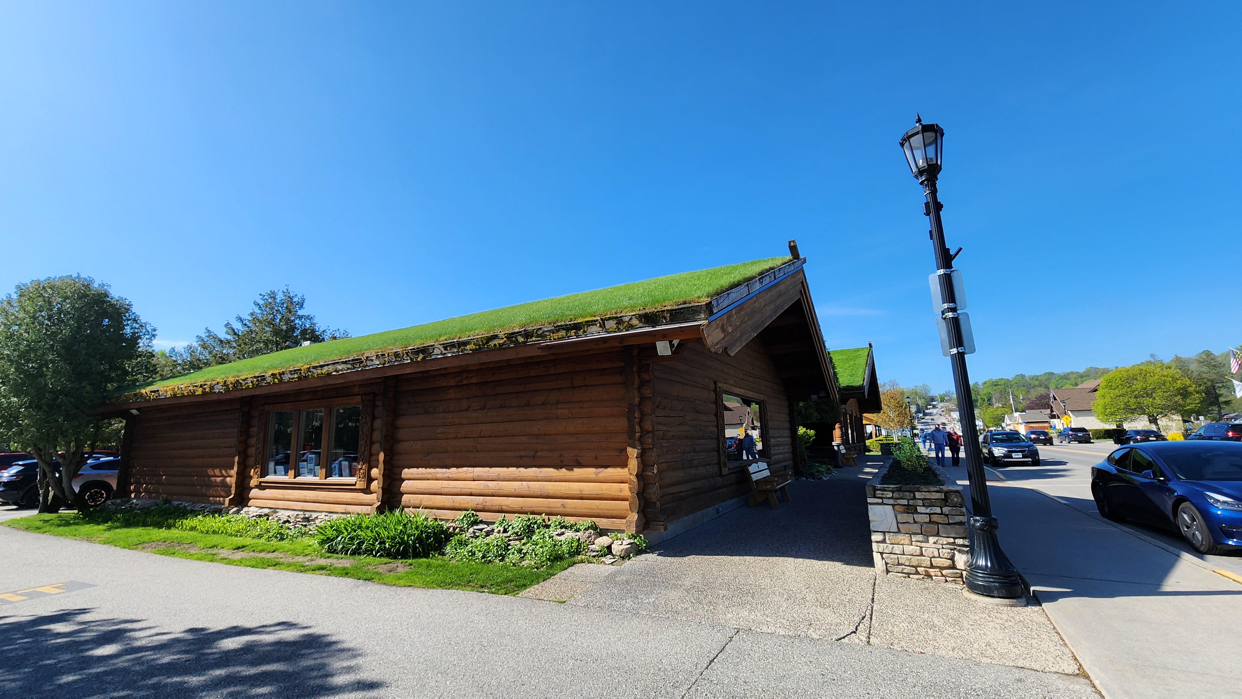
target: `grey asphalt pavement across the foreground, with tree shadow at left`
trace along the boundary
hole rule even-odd
[[[1066,674],[5,526],[0,556],[2,697],[1095,697]]]

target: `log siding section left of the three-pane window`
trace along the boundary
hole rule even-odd
[[[241,405],[144,408],[129,453],[135,498],[224,503],[232,494]]]

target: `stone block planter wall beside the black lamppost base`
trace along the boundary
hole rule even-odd
[[[933,467],[945,483],[948,476]],[[970,561],[960,485],[867,485],[876,572],[961,585]]]

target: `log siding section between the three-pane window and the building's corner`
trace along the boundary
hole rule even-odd
[[[486,520],[549,514],[620,529],[626,484],[622,350],[397,381],[388,507]]]

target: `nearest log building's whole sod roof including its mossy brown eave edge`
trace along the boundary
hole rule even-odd
[[[755,259],[292,348],[124,389],[112,402],[217,394],[481,349],[705,320],[708,302],[790,263],[789,257]]]

